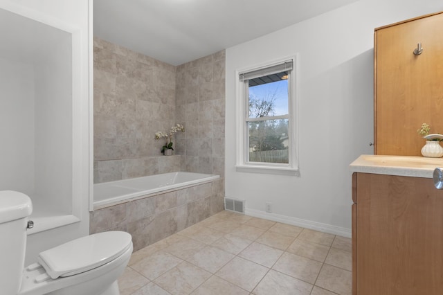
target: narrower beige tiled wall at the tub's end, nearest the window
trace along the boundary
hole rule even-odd
[[[176,116],[186,126],[177,134],[183,170],[220,175],[211,212],[224,209],[225,51],[177,66]]]

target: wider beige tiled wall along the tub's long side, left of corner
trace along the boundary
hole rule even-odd
[[[175,120],[175,73],[170,64],[94,38],[94,182],[181,170],[164,157]]]

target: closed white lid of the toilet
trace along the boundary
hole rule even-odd
[[[73,276],[114,260],[131,247],[124,231],[95,233],[39,253],[38,262],[51,278]]]

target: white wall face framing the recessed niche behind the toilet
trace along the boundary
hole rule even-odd
[[[62,152],[59,156],[64,156],[71,161],[72,170],[71,177],[69,177],[72,180],[73,195],[71,211],[80,217],[80,222],[28,235],[26,263],[30,263],[35,261],[37,253],[44,249],[89,234],[89,183],[92,179],[90,158],[90,126],[92,125],[90,120],[92,117],[89,112],[91,106],[91,100],[89,100],[89,82],[91,80],[89,64],[91,48],[89,9],[91,8],[91,3],[89,3],[89,0],[0,0],[0,8],[42,21],[50,26],[62,28],[62,30],[72,33],[72,42],[74,44],[71,63],[73,69],[72,89],[69,89],[72,90],[73,100],[71,103],[73,113],[72,120],[66,118],[66,120],[71,121],[69,124],[73,128],[71,134],[62,135],[68,136],[68,140],[73,144],[71,145],[71,154],[66,152],[63,155]],[[52,67],[50,71],[54,71],[54,69]],[[42,68],[37,69],[40,73],[41,70]],[[45,76],[46,78],[51,77],[51,75]],[[53,80],[53,78],[50,79]],[[37,81],[40,82],[42,80]],[[56,83],[57,79],[53,82]],[[66,87],[66,85],[59,84],[55,86],[60,88],[51,93],[51,96],[56,96],[57,94],[55,93],[63,93],[65,91],[62,88]],[[38,86],[36,89],[39,92]],[[44,92],[41,91],[38,95],[44,95]],[[64,121],[65,123],[66,120]],[[57,123],[53,122],[53,124]],[[16,132],[19,132],[19,130],[16,130]],[[62,147],[62,149],[64,148]],[[64,173],[66,171],[59,172]]]

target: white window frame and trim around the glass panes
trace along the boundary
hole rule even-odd
[[[288,135],[289,135],[289,163],[264,163],[248,161],[248,122],[255,119],[249,118],[249,97],[248,97],[248,82],[241,81],[239,75],[250,71],[266,69],[271,66],[282,64],[292,60],[293,69],[288,75],[288,115],[283,116],[266,116],[260,118],[261,120],[272,120],[279,118],[288,118]],[[291,57],[284,57],[273,62],[266,62],[264,64],[249,66],[244,69],[238,69],[235,72],[236,80],[236,108],[237,108],[237,152],[236,165],[237,172],[255,172],[277,175],[293,175],[300,176],[298,169],[298,62],[297,55]]]

